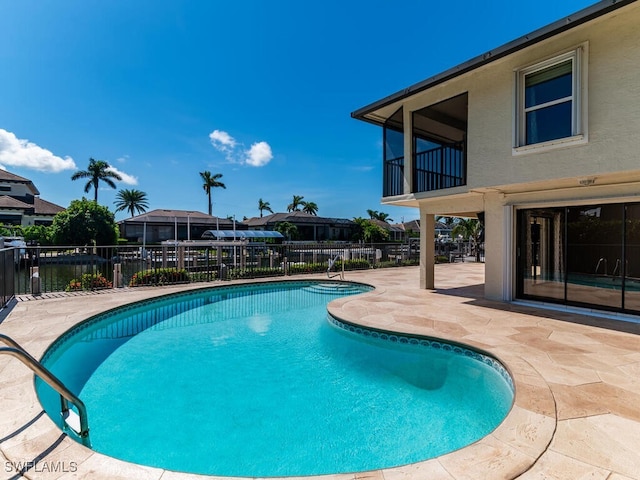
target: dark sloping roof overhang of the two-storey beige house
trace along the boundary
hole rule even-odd
[[[389,95],[388,97],[362,107],[352,112],[351,117],[373,123],[375,125],[383,125],[388,115],[380,114],[379,111],[385,107],[398,103],[405,98],[415,95],[416,93],[428,90],[436,85],[464,75],[465,73],[471,72],[484,65],[495,62],[500,58],[504,58],[543,40],[554,37],[562,32],[576,28],[614,10],[635,3],[636,1],[637,0],[604,0],[598,2],[590,7],[551,23],[546,27],[535,30],[528,35],[517,38],[516,40],[506,43],[501,47],[490,50],[480,56],[450,68],[449,70],[445,70],[442,73],[434,75],[433,77],[427,78],[426,80],[411,85],[410,87]],[[396,109],[393,109],[394,112],[395,110]]]

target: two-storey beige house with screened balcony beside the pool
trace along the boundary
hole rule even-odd
[[[435,217],[478,218],[487,298],[640,313],[639,26],[599,2],[352,113],[420,210],[421,287]]]

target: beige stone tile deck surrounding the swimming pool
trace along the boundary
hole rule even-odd
[[[515,379],[515,404],[492,434],[456,452],[403,467],[317,478],[640,479],[640,324],[484,300],[482,264],[436,265],[435,291],[420,290],[418,276],[416,267],[348,272],[347,280],[376,290],[339,299],[330,310],[347,322],[435,336],[493,354]],[[204,286],[26,297],[0,323],[0,333],[40,358],[60,334],[93,314]],[[20,466],[27,468],[21,472]],[[21,478],[20,473],[47,480],[228,478],[133,465],[82,447],[42,413],[30,371],[4,355],[0,478]]]

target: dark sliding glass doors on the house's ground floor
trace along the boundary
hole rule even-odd
[[[640,312],[640,204],[523,209],[518,298]]]

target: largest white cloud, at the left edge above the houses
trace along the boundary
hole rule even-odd
[[[58,157],[46,148],[17,138],[15,134],[2,128],[0,128],[0,165],[53,173],[76,169],[73,158]]]

